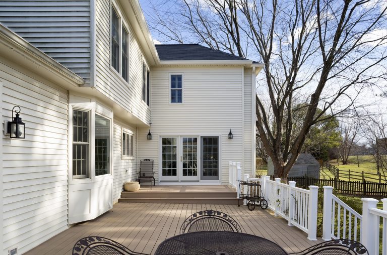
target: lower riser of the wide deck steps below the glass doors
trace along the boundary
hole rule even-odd
[[[236,196],[228,197],[145,197],[145,198],[119,198],[118,202],[126,203],[168,203],[168,204],[238,204]]]

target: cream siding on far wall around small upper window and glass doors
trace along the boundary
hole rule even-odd
[[[170,103],[170,74],[183,75],[182,104]],[[247,94],[242,88],[243,68],[153,67],[151,81],[152,140],[147,140],[148,129],[139,130],[139,159],[153,159],[158,171],[160,135],[221,136],[221,182],[228,183],[228,162],[243,159],[242,100],[244,93]],[[228,139],[230,129],[232,140]],[[251,155],[251,149],[248,150]]]

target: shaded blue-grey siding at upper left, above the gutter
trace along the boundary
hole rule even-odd
[[[90,83],[90,0],[0,1],[0,22]]]

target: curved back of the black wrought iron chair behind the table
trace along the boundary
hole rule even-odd
[[[229,215],[205,210],[193,213],[186,218],[180,227],[180,234],[200,231],[230,231],[241,232],[238,222]]]

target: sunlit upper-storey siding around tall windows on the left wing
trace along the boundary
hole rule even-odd
[[[110,62],[110,1],[96,0],[96,88],[125,110],[145,123],[150,122],[150,108],[142,100],[142,53],[130,24],[118,9],[118,16],[127,24],[129,40],[128,82],[111,67]]]

